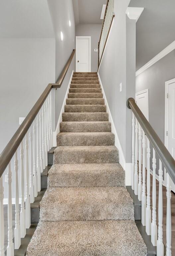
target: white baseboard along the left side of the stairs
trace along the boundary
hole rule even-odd
[[[74,71],[72,70],[72,74],[71,74],[71,77],[70,77],[70,80],[69,80],[69,83],[68,83],[68,86],[67,86],[67,91],[66,91],[66,94],[65,94],[65,97],[64,97],[64,101],[63,101],[61,111],[60,111],[60,114],[59,114],[59,118],[58,118],[58,122],[57,122],[57,125],[56,125],[56,130],[53,132],[53,147],[57,146],[57,144],[56,144],[56,135],[59,133],[59,124],[60,124],[60,122],[62,122],[62,113],[64,113],[64,106],[66,105],[67,94],[69,92],[73,72]]]

